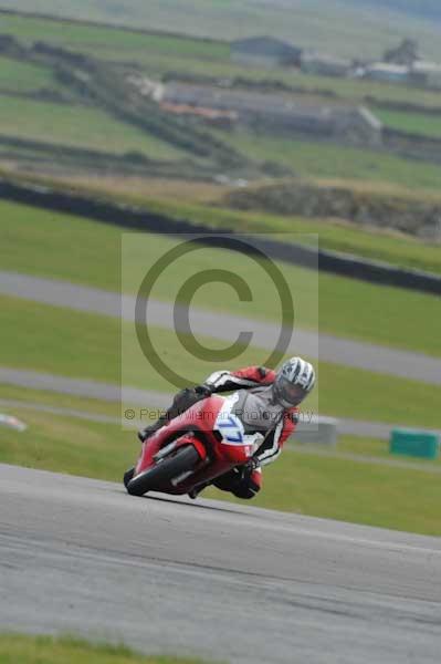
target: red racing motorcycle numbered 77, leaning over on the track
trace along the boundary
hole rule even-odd
[[[125,475],[132,496],[148,491],[190,494],[241,466],[259,447],[232,412],[238,396],[209,396],[148,437]]]

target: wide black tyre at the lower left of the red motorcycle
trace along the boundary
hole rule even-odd
[[[153,468],[130,479],[126,486],[130,496],[144,496],[147,491],[159,491],[161,486],[168,484],[174,477],[192,470],[200,457],[192,445],[179,447],[178,450],[167,456]]]

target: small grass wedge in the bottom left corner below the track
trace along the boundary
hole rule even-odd
[[[1,664],[203,664],[201,660],[146,656],[125,645],[90,643],[75,636],[0,633]]]

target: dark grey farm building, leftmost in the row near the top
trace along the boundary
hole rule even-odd
[[[302,49],[273,37],[251,37],[231,42],[230,56],[238,64],[274,68],[300,65]]]

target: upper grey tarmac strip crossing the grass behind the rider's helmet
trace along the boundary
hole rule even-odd
[[[134,297],[122,298],[119,293],[76,286],[69,281],[0,271],[0,293],[77,311],[135,320]],[[172,303],[149,300],[147,320],[151,325],[171,329],[175,324]],[[269,350],[277,346],[280,326],[274,323],[196,307],[191,308],[190,322],[192,330],[202,335],[234,342],[241,331],[251,331],[253,346]],[[423,353],[399,351],[298,329],[292,334],[287,352],[441,385],[441,357],[430,357]]]

